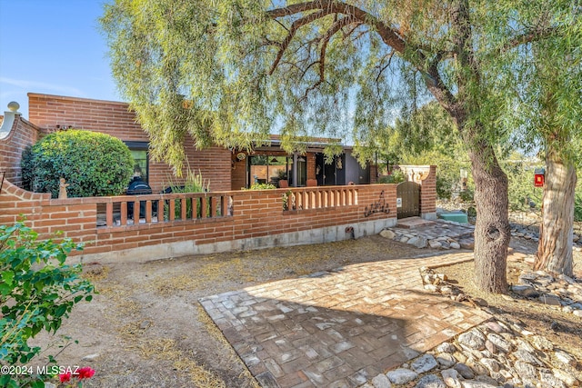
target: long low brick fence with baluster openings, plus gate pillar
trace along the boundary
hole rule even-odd
[[[421,214],[435,212],[428,193],[434,171],[422,182]],[[141,219],[140,203],[146,205]],[[127,204],[134,204],[133,213]],[[187,206],[197,211],[186,214]],[[85,260],[153,260],[377,234],[396,224],[396,184],[59,200],[5,181],[0,224],[21,215],[42,238],[62,231],[85,243],[85,251],[75,253]]]

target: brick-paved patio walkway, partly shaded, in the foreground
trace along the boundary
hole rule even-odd
[[[422,287],[419,267],[472,257],[346,265],[200,303],[263,387],[354,387],[489,318]]]

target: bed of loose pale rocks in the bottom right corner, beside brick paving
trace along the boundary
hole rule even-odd
[[[360,388],[392,384],[426,388],[578,386],[576,358],[517,322],[492,320],[441,343]]]

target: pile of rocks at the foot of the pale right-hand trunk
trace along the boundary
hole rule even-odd
[[[564,274],[555,277],[544,271],[522,271],[511,291],[582,317],[582,279]]]

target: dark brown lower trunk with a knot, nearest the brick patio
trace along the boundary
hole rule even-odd
[[[471,143],[469,143],[471,144]],[[507,293],[508,220],[507,175],[490,144],[469,150],[475,181],[475,282],[488,293]]]

